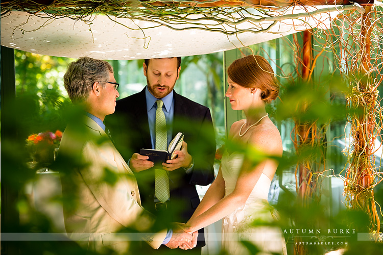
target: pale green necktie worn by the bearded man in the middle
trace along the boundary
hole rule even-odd
[[[166,119],[162,111],[163,101],[157,100],[156,111],[156,149],[167,150]],[[166,202],[170,197],[169,176],[163,169],[155,169],[156,181],[154,184],[154,194],[161,202]]]

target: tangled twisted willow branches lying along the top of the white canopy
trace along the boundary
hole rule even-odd
[[[356,10],[364,12],[364,9],[358,5],[330,7],[318,9],[312,12],[283,14],[279,11],[286,11],[287,8],[266,7],[254,5],[244,1],[229,1],[227,3],[220,0],[212,1],[137,1],[131,0],[126,2],[110,0],[110,1],[54,1],[50,5],[37,4],[35,2],[10,1],[2,3],[2,17],[7,16],[10,11],[24,11],[41,18],[59,19],[70,18],[75,21],[81,20],[91,25],[96,15],[105,15],[117,24],[123,25],[130,30],[145,30],[164,26],[172,30],[190,30],[198,29],[210,32],[223,33],[225,35],[236,35],[244,32],[260,33],[270,31],[270,29],[279,21],[288,19],[308,18],[317,14],[328,13],[333,11]],[[280,4],[283,1],[275,1]],[[231,6],[228,6],[230,3]],[[237,3],[237,6],[235,4]],[[292,2],[294,5],[294,1]],[[201,7],[204,4],[220,4],[220,6]],[[243,6],[246,7],[243,7]],[[250,8],[249,8],[250,7]],[[289,6],[288,6],[289,7]],[[255,12],[254,12],[255,10]],[[282,12],[283,13],[283,12]],[[147,21],[157,25],[128,26],[115,18],[127,18],[130,20]],[[304,22],[304,20],[302,20]],[[266,22],[262,27],[261,22]],[[49,22],[45,22],[49,23]],[[246,23],[246,28],[238,28],[240,24]],[[23,24],[22,24],[23,25]],[[18,27],[20,28],[20,26]]]

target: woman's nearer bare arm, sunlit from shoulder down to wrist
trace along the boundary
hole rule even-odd
[[[256,148],[266,154],[279,155],[277,152],[279,148],[276,148],[279,146],[279,143],[276,142],[270,134],[263,134],[264,132],[259,133],[255,137],[252,137],[252,141],[249,142],[251,142],[253,146],[256,144]],[[275,143],[278,143],[278,145]],[[196,215],[193,215],[193,217],[186,223],[187,228],[185,231],[189,233],[197,231],[200,228],[212,224],[229,215],[238,207],[243,206],[254,189],[255,184],[259,180],[266,164],[275,164],[276,169],[277,164],[273,162],[273,160],[266,159],[254,167],[254,164],[245,158],[241,173],[238,176],[233,192],[219,200],[213,206],[211,206],[211,203],[206,203],[209,206],[209,209],[207,209],[208,206],[206,206],[204,208],[205,210],[198,210],[198,212],[195,213]]]

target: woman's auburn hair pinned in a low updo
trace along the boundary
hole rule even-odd
[[[242,87],[260,89],[260,97],[266,103],[278,96],[279,85],[273,68],[264,57],[250,55],[237,59],[229,66],[227,74],[234,83]]]

